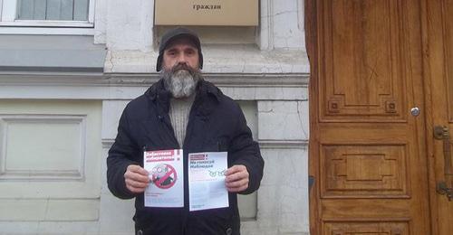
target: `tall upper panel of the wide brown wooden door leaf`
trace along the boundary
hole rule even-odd
[[[401,1],[323,1],[322,120],[403,121]],[[381,17],[386,15],[387,17]]]

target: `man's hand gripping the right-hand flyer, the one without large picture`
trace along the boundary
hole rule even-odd
[[[226,169],[226,190],[230,193],[238,193],[248,188],[248,171],[245,165],[236,164]]]

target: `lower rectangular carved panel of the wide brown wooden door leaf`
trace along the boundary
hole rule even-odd
[[[408,198],[404,144],[323,145],[323,198]]]

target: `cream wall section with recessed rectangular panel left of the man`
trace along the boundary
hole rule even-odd
[[[99,220],[101,101],[0,99],[0,138],[0,234]]]

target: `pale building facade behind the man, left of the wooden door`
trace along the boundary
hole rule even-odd
[[[133,233],[133,201],[111,195],[105,160],[122,109],[159,79],[171,26],[154,24],[154,6],[0,0],[0,234]],[[258,10],[257,26],[188,27],[265,158],[260,189],[240,197],[243,234],[308,234],[304,1]]]

